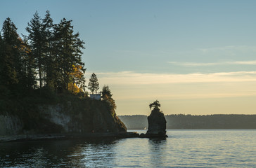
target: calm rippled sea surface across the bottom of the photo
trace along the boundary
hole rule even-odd
[[[256,130],[168,130],[167,134],[165,140],[0,143],[0,167],[256,167]]]

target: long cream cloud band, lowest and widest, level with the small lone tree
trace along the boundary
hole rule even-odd
[[[222,73],[136,73],[133,71],[98,72],[102,84],[155,85],[168,83],[217,83],[256,81],[256,71]]]

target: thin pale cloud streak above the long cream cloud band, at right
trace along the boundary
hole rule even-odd
[[[239,61],[239,62],[167,62],[169,64],[179,65],[179,66],[216,66],[216,65],[256,65],[256,60],[251,61]]]

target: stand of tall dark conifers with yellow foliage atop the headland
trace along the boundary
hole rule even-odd
[[[72,20],[63,18],[53,24],[48,10],[44,18],[36,12],[26,30],[28,35],[20,38],[11,19],[4,21],[0,32],[1,87],[13,92],[41,87],[73,92],[84,87],[84,41],[73,31]]]

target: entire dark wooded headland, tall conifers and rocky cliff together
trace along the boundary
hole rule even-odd
[[[0,134],[126,131],[108,85],[100,99],[87,96],[99,84],[95,73],[85,84],[84,41],[72,20],[36,12],[27,35],[17,29],[6,18],[0,32]]]

